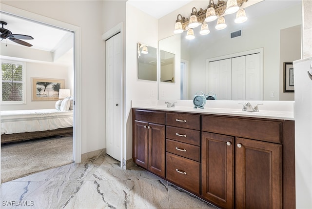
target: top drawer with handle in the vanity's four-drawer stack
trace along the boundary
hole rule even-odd
[[[166,113],[166,122],[171,126],[200,130],[200,115]]]

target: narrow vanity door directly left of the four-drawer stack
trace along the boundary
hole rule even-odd
[[[165,125],[149,123],[148,169],[165,177]]]

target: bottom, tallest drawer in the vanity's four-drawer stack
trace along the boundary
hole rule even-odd
[[[166,179],[200,194],[200,163],[166,152]]]

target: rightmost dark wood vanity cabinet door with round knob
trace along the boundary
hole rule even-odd
[[[236,138],[236,208],[282,208],[282,145]]]

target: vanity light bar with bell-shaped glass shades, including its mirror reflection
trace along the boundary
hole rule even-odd
[[[247,20],[246,13],[244,9],[239,9],[244,2],[248,0],[218,0],[215,4],[214,0],[209,0],[209,5],[207,9],[200,8],[199,11],[195,7],[192,8],[192,13],[190,19],[183,17],[178,14],[174,33],[182,33],[187,31],[187,39],[194,39],[194,31],[190,30],[201,24],[200,34],[206,35],[210,31],[208,29],[208,24],[217,19],[215,28],[217,30],[222,30],[226,28],[224,16],[227,14],[236,14],[236,23],[242,23]]]

